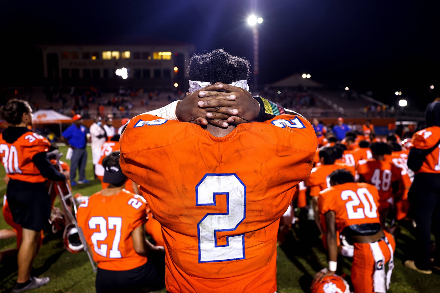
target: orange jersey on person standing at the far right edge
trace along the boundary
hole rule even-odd
[[[440,127],[432,126],[417,131],[412,137],[413,148],[432,148],[440,140]],[[440,145],[429,153],[422,167],[414,173],[440,173]]]

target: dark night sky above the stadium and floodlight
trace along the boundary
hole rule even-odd
[[[246,18],[255,13],[264,19],[259,83],[307,72],[321,83],[372,90],[374,98],[390,104],[397,100],[396,90],[403,93],[399,98],[428,101],[429,85],[440,89],[439,2],[3,1],[1,62],[10,70],[1,84],[19,85],[23,73],[13,68],[31,58],[23,52],[41,43],[114,43],[151,36],[193,43],[197,52],[224,48],[253,63]],[[11,58],[4,59],[5,54]],[[27,76],[35,72],[29,69]]]

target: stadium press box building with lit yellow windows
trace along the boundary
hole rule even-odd
[[[148,41],[132,44],[40,45],[48,85],[180,88],[195,52],[192,44]],[[117,69],[127,69],[127,76]]]

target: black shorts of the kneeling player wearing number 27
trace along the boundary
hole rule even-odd
[[[96,293],[135,293],[143,288],[159,290],[165,286],[165,276],[152,261],[128,271],[109,271],[98,268]]]

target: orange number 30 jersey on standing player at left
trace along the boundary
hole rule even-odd
[[[28,131],[9,144],[0,134],[0,159],[10,179],[31,183],[44,182],[40,170],[32,162],[33,156],[40,152],[48,152],[51,144],[40,134]]]

